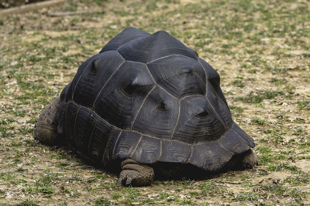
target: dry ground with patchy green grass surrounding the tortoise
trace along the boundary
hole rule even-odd
[[[0,205],[310,205],[309,19],[308,0],[70,0],[1,17]],[[117,187],[118,174],[33,140],[78,66],[128,26],[166,30],[217,70],[259,166]]]

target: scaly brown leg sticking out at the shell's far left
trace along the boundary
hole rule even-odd
[[[34,125],[33,138],[42,144],[57,145],[59,143],[56,121],[56,111],[59,105],[60,97],[47,105]]]

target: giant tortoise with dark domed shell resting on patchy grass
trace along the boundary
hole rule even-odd
[[[219,83],[206,61],[167,32],[128,27],[79,66],[33,136],[118,169],[119,186],[149,185],[157,173],[252,168],[255,143],[232,120]]]

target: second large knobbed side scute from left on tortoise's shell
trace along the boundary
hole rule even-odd
[[[124,62],[96,94],[93,110],[118,128],[130,128],[137,107],[153,84],[145,65]]]

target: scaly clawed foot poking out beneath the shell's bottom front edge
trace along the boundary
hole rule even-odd
[[[121,186],[125,181],[126,185],[131,184],[133,186],[145,186],[153,182],[154,170],[150,166],[128,158],[122,161],[121,167],[122,171],[119,174],[118,186]]]

